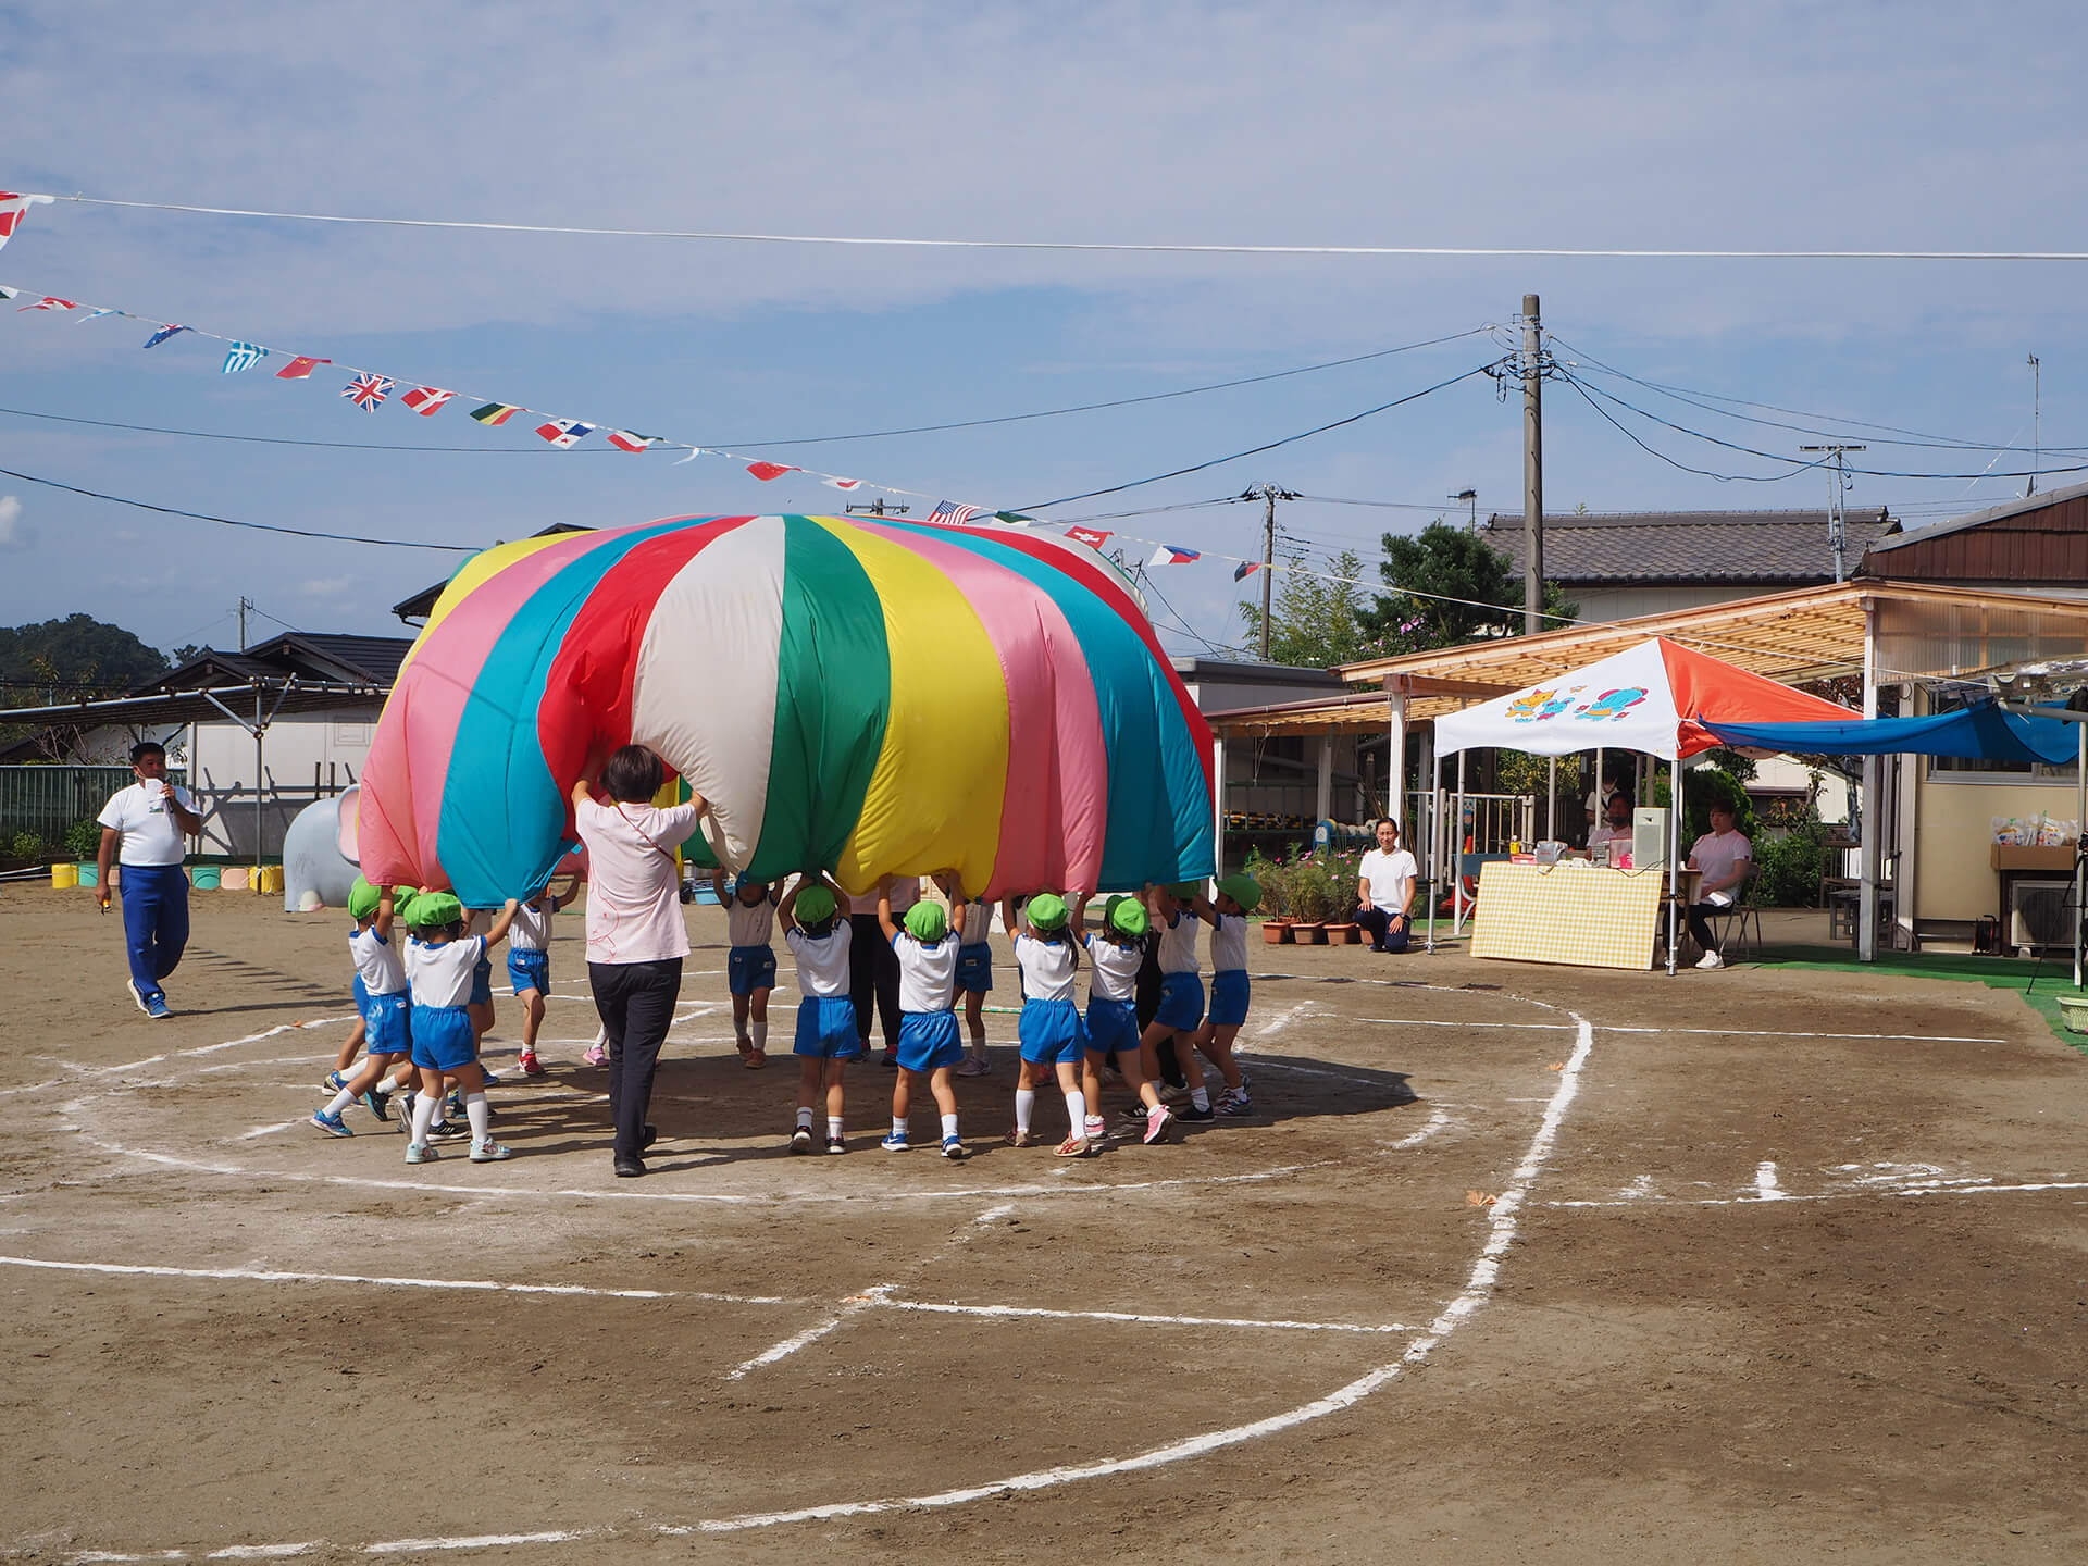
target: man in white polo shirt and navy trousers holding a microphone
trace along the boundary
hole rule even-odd
[[[132,975],[125,992],[146,1017],[171,1017],[167,992],[159,981],[173,973],[188,946],[188,837],[203,831],[203,816],[188,789],[167,781],[167,750],[150,739],[132,745],[132,773],[138,781],[117,789],[96,816],[102,825],[102,846],[94,856],[100,869],[100,904],[109,912],[109,867],[123,864],[123,935],[129,944]]]

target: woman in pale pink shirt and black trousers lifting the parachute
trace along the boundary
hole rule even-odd
[[[681,917],[674,848],[710,810],[702,796],[660,808],[651,798],[666,766],[645,745],[624,745],[601,768],[597,800],[583,777],[572,785],[572,821],[587,848],[587,981],[610,1036],[610,1119],[616,1173],[645,1173],[658,1134],[645,1123],[660,1046],[681,996],[689,927]]]

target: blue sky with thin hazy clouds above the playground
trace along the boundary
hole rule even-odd
[[[562,226],[1128,242],[2088,251],[2069,8],[1370,4],[0,6],[0,188]],[[1027,505],[1259,445],[1497,357],[1487,336],[1311,376],[881,441],[800,436],[1178,390],[1503,324],[1727,397],[1952,436],[2088,443],[2082,263],[1184,257],[497,236],[38,209],[0,282],[777,461]],[[480,545],[549,522],[833,509],[735,464],[570,453],[457,405],[361,416],[322,372],[219,376],[196,338],[0,313],[0,407],[459,455],[146,436],[0,413],[0,466],[163,505]],[[269,365],[269,370],[274,363]],[[1645,405],[1627,382],[1599,382]],[[1771,451],[1814,438],[1664,413]],[[1779,416],[1771,416],[1779,418]],[[535,420],[530,420],[532,424]],[[1681,461],[1777,472],[1643,428]],[[2025,466],[1890,449],[1877,468]],[[2088,461],[2073,457],[2071,461]],[[1251,482],[1520,509],[1518,407],[1478,378],[1090,516]],[[2046,487],[2067,482],[2046,480]],[[1911,520],[2019,478],[1865,476]],[[1551,509],[1817,507],[1819,474],[1716,482],[1547,395]],[[1430,509],[1295,503],[1309,549]],[[1257,553],[1259,507],[1096,526]],[[1144,549],[1142,545],[1132,545]],[[397,631],[449,557],[265,539],[0,478],[0,622],[88,610],[236,641],[244,593]],[[1230,566],[1161,578],[1236,639]],[[1157,606],[1159,608],[1159,606]],[[1167,639],[1203,649],[1163,612]],[[274,628],[263,618],[263,631]]]

